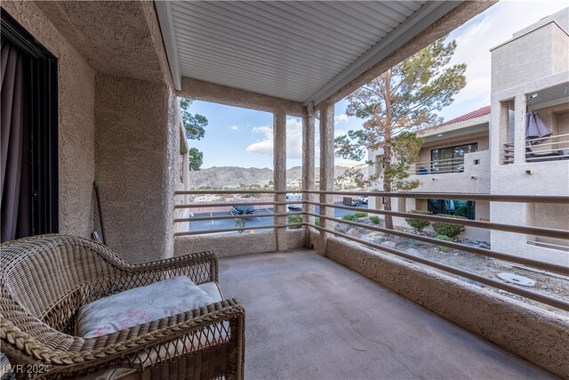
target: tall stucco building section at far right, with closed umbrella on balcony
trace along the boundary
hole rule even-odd
[[[525,28],[492,50],[493,194],[569,194],[569,8]],[[530,49],[531,47],[531,53]],[[526,140],[525,119],[537,113],[552,133]],[[567,205],[493,203],[493,222],[550,229],[569,226]],[[567,240],[493,231],[495,250],[569,263]]]

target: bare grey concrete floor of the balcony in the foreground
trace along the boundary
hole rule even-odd
[[[246,311],[245,378],[555,378],[311,250],[220,259]]]

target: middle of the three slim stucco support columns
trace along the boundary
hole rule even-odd
[[[314,190],[314,125],[314,111],[302,117],[302,190],[305,191]],[[314,199],[313,194],[302,193],[303,201],[313,201]],[[314,206],[303,204],[302,211],[305,213],[314,213]],[[304,214],[302,216],[302,222],[314,224],[314,216]],[[309,247],[310,229],[308,226],[305,226],[304,230],[306,232],[305,246]]]

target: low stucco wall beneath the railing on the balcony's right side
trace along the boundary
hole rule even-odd
[[[509,352],[569,377],[566,317],[343,239],[330,239],[325,255]]]

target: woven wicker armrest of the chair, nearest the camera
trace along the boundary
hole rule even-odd
[[[107,336],[92,338],[68,336],[45,325],[39,319],[28,323],[28,327],[33,325],[33,328],[22,331],[20,327],[14,326],[11,321],[0,315],[0,336],[3,351],[9,356],[17,356],[22,363],[44,365],[44,368],[49,368],[45,376],[69,375],[94,368],[136,368],[136,363],[128,358],[132,354],[145,354],[152,347],[175,344],[182,338],[188,339],[188,336],[196,330],[223,321],[229,322],[229,342],[235,344],[236,360],[242,362],[244,308],[235,299],[223,300]],[[28,356],[23,357],[24,352]],[[183,352],[182,355],[188,353],[190,352]],[[151,366],[159,364],[160,359],[156,356],[151,359],[155,362],[149,364]],[[171,356],[163,359],[176,360]]]

